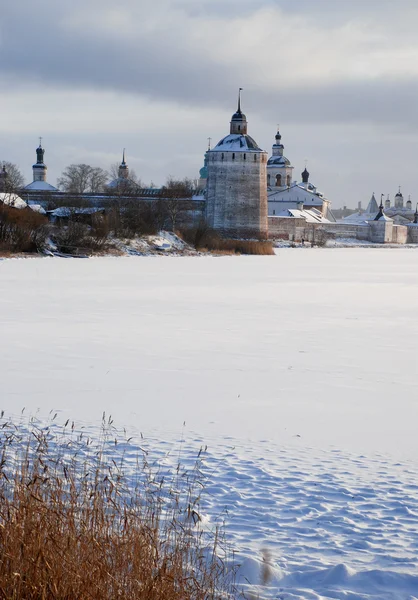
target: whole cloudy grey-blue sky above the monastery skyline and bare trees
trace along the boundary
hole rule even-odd
[[[416,192],[417,0],[14,0],[0,11],[0,159],[31,181],[109,168],[126,147],[145,183],[196,177],[228,133],[280,124],[300,178],[332,200]]]

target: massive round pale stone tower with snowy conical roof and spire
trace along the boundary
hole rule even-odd
[[[207,152],[206,222],[224,236],[268,237],[267,152],[247,134],[247,118],[232,115],[230,133]]]

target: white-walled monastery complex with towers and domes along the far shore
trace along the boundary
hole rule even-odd
[[[301,180],[294,179],[294,167],[284,154],[282,135],[278,130],[269,156],[248,134],[248,121],[238,107],[231,117],[229,133],[218,144],[209,146],[192,205],[184,205],[189,224],[203,219],[225,237],[251,239],[287,239],[314,241],[318,232],[328,238],[355,238],[374,243],[418,243],[418,208],[413,211],[411,199],[404,202],[399,189],[393,204],[389,196],[378,205],[375,195],[365,211],[336,221],[330,200],[310,181],[305,166]],[[42,211],[47,200],[71,202],[76,197],[58,190],[47,181],[45,149],[36,148],[33,181],[18,191],[13,200],[20,208],[29,206]],[[0,193],[7,191],[8,174],[0,171]],[[22,200],[23,198],[23,200]],[[141,189],[130,179],[123,151],[118,176],[102,193],[83,194],[92,210],[106,209],[112,202],[152,201],[168,199],[164,189]],[[6,201],[0,197],[0,201]],[[79,199],[79,196],[78,196]],[[180,199],[181,200],[181,199]],[[183,199],[185,200],[185,199]],[[7,200],[10,203],[10,199]],[[83,209],[88,210],[88,209]],[[51,212],[51,211],[50,211]],[[54,215],[52,215],[53,217]]]

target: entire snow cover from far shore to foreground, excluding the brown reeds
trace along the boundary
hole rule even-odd
[[[417,252],[0,261],[1,408],[105,410],[160,457],[186,421],[253,598],[413,600]]]

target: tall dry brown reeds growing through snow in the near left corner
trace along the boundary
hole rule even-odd
[[[219,532],[212,532],[209,542],[196,527],[198,461],[186,486],[180,465],[165,483],[152,471],[145,452],[128,476],[124,451],[117,453],[127,440],[111,439],[108,425],[96,444],[77,435],[68,422],[61,433],[52,425],[2,423],[1,597],[227,597]]]

